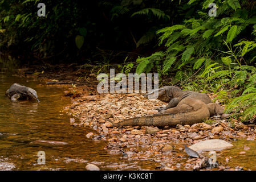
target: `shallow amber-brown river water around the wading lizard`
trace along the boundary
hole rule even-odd
[[[11,102],[5,96],[13,84],[34,88],[40,102]],[[116,164],[118,156],[107,154],[104,141],[88,139],[90,129],[71,126],[62,113],[70,98],[62,97],[63,88],[40,86],[29,78],[0,73],[0,170],[84,170],[88,162],[105,169]],[[68,142],[63,147],[30,146],[34,140]],[[38,164],[38,152],[46,154],[46,164]]]

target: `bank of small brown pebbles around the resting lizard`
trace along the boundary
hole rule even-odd
[[[112,123],[105,121],[111,119],[119,122],[125,118],[141,117],[155,114],[157,107],[164,105],[159,100],[147,100],[142,94],[99,94],[96,92],[95,75],[90,75],[91,80],[82,84],[67,84],[64,96],[71,97],[71,105],[64,110],[72,115],[70,125],[74,127],[91,127],[95,132],[85,133],[92,140],[107,140],[105,150],[111,155],[121,155],[121,158],[131,162],[152,161],[157,163],[156,169],[210,169],[200,167],[202,158],[190,158],[184,150],[184,144],[191,146],[202,140],[222,139],[233,143],[238,139],[255,140],[255,125],[245,125],[237,119],[213,117],[211,121],[196,123],[192,126],[177,125],[176,127],[144,127],[125,126],[113,127]],[[71,77],[70,77],[71,78]],[[72,80],[79,82],[79,78],[73,75]],[[56,82],[61,80],[56,75],[42,77],[44,82]],[[88,84],[87,84],[88,83]],[[208,93],[210,98],[215,98],[214,93]],[[245,147],[237,155],[245,155]],[[218,156],[225,156],[226,151],[217,151]],[[207,156],[208,152],[202,152]],[[242,166],[229,166],[231,156],[225,156],[225,160],[218,161],[216,170],[240,170]]]

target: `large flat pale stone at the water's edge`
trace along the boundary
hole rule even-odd
[[[225,148],[230,148],[230,147],[233,147],[233,144],[230,144],[220,139],[212,139],[212,140],[204,140],[204,141],[195,143],[189,148],[194,151],[211,151],[211,150],[223,150]]]

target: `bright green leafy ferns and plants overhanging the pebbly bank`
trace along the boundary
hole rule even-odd
[[[212,2],[217,5],[216,17],[204,11]],[[190,0],[188,5],[194,7],[189,19],[157,31],[159,45],[164,44],[166,50],[139,57],[136,72],[155,69],[160,77],[175,72],[172,84],[181,82],[188,89],[214,90],[228,104],[227,113],[235,111],[242,120],[253,118],[256,2]],[[196,70],[198,75],[193,75]]]

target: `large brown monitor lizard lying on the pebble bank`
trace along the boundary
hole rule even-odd
[[[212,115],[223,114],[224,112],[220,105],[212,103],[207,94],[182,91],[174,86],[166,86],[159,89],[159,96],[161,101],[168,102],[170,100],[168,105],[172,107],[162,110],[160,114],[129,118],[119,123],[112,122],[113,126],[193,125],[194,123],[204,122]]]

